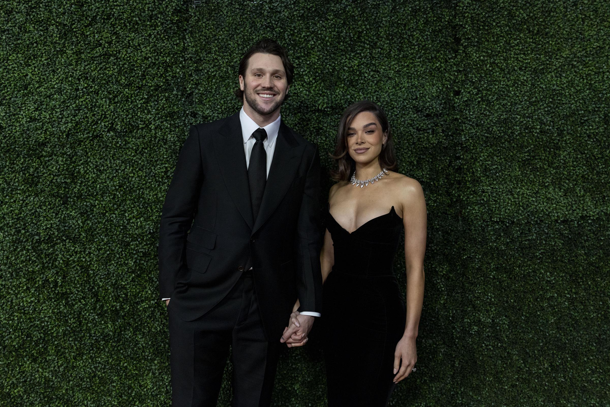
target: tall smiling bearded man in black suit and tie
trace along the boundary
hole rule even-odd
[[[285,49],[257,42],[240,112],[191,126],[180,151],[159,237],[174,407],[216,405],[229,346],[233,406],[270,405],[280,342],[304,344],[320,316],[320,158],[281,121],[292,77]]]

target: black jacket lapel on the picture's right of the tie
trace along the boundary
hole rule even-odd
[[[259,215],[252,228],[253,234],[267,221],[284,198],[295,178],[296,170],[301,164],[301,156],[305,147],[305,145],[299,145],[283,121],[279,126],[278,139],[275,142],[277,144],[273,152]]]

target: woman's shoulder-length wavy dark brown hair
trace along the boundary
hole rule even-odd
[[[337,168],[331,170],[331,177],[334,181],[348,181],[351,174],[356,170],[356,162],[350,157],[347,147],[347,132],[354,117],[362,112],[373,113],[379,124],[381,124],[382,132],[387,134],[386,144],[381,147],[381,153],[379,153],[379,165],[381,165],[381,168],[387,168],[388,170],[395,170],[397,167],[396,154],[392,143],[392,132],[390,131],[390,123],[387,121],[386,113],[384,113],[378,104],[363,100],[348,106],[339,120],[335,153],[330,154],[337,163]]]

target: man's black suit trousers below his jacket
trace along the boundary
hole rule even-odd
[[[184,321],[168,305],[172,407],[217,404],[231,351],[234,407],[269,406],[279,337],[268,342],[251,271],[209,312]]]

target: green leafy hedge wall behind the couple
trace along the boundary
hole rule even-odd
[[[273,37],[286,123],[331,151],[376,101],[426,193],[418,370],[390,404],[609,406],[609,21],[607,0],[2,1],[0,405],[169,405],[163,198]],[[274,405],[326,405],[315,330]]]

